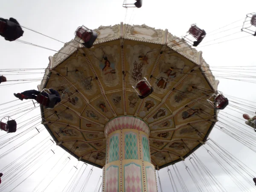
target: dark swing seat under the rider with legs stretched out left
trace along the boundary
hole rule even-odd
[[[48,96],[44,96],[42,93],[47,93]],[[56,105],[58,96],[49,94],[49,89],[43,89],[40,94],[38,94],[36,101],[43,105],[46,109],[52,109]]]

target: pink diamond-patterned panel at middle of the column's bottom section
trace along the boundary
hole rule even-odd
[[[129,163],[124,166],[125,192],[142,192],[141,166]]]

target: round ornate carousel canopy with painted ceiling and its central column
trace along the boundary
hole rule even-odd
[[[201,41],[200,30],[192,25],[189,32]],[[57,145],[104,168],[103,182],[119,180],[117,172],[126,180],[123,172],[138,168],[148,175],[140,189],[155,188],[155,168],[184,160],[207,140],[218,109],[227,105],[218,80],[202,52],[179,52],[188,43],[167,29],[121,23],[93,31],[83,26],[76,35],[49,57],[38,85],[62,95],[53,109],[41,106],[42,123]]]

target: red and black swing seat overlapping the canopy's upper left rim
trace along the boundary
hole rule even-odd
[[[84,41],[84,43],[82,43],[84,47],[91,48],[93,47],[93,43],[97,38],[97,33],[85,26],[81,26],[76,29],[76,36]]]

